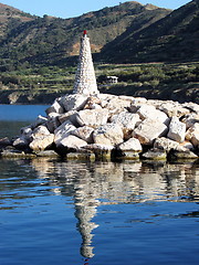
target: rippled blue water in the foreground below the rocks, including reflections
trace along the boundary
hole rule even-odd
[[[0,159],[0,264],[199,264],[198,184],[197,161]]]

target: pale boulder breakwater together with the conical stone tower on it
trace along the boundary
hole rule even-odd
[[[198,159],[199,105],[101,94],[84,31],[73,94],[56,98],[21,135],[0,140],[1,157]]]

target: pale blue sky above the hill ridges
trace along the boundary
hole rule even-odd
[[[105,7],[113,7],[123,0],[0,0],[1,3],[18,8],[24,12],[43,17],[43,14],[73,18],[87,13],[90,11],[97,11]],[[177,9],[190,0],[138,0],[138,2],[146,4],[153,3],[161,8]]]

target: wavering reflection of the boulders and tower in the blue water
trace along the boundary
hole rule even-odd
[[[199,192],[195,163],[64,163],[46,158],[32,162],[40,178],[48,177],[50,184],[55,186],[52,188],[55,194],[74,198],[77,229],[82,235],[81,254],[85,257],[94,255],[92,240],[97,225],[92,219],[98,205],[181,198],[195,200]]]

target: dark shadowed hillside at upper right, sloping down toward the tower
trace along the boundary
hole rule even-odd
[[[101,55],[115,63],[198,61],[199,1],[189,2],[138,32],[132,23],[104,46]]]

